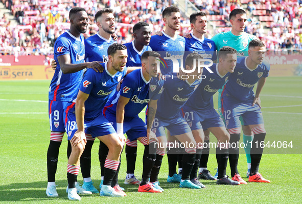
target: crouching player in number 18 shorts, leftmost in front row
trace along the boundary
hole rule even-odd
[[[79,174],[80,156],[85,149],[85,133],[97,137],[109,149],[100,195],[113,197],[125,195],[114,191],[111,181],[120,164],[120,154],[126,138],[123,134],[115,133],[112,125],[102,114],[102,109],[111,92],[126,75],[126,49],[121,44],[109,46],[109,60],[107,63],[101,64],[105,71],[96,73],[88,70],[83,76],[78,95],[69,101],[66,108],[65,126],[72,145],[72,153],[67,164],[68,199],[70,200],[81,200],[75,188],[75,181]]]

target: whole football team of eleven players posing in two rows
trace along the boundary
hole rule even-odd
[[[266,45],[244,32],[245,10],[233,9],[231,30],[208,39],[204,36],[206,12],[192,13],[192,32],[180,36],[181,12],[169,6],[161,13],[165,28],[151,36],[149,24],[138,22],[132,28],[132,42],[125,44],[117,43],[113,14],[109,8],[97,11],[99,30],[84,39],[92,22],[84,8],[74,7],[69,11],[70,28],[54,43],[47,196],[63,196],[56,191],[55,175],[65,132],[69,200],[92,193],[126,196],[127,188],[118,183],[121,165],[127,167],[124,183],[137,185],[138,192],[165,193],[158,181],[161,166],[169,167],[167,182],[180,188],[206,188],[202,179],[225,188],[269,183],[259,166],[260,144],[266,136],[260,93],[270,65],[264,60]],[[216,92],[219,98],[213,101]],[[218,110],[214,103],[219,104]],[[146,118],[138,116],[142,111]],[[246,172],[237,168],[241,131]],[[216,175],[206,166],[210,132],[217,138]],[[100,140],[101,183],[94,186],[90,169],[96,138]],[[139,158],[143,159],[141,180],[134,175],[137,140],[144,145],[143,158]],[[124,152],[126,161],[121,162]],[[166,154],[168,164],[162,162]],[[228,163],[230,172],[226,172]],[[80,169],[83,185],[77,181]]]

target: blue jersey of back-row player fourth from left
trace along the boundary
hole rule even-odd
[[[165,60],[166,64],[160,64],[160,71],[162,74],[173,72],[173,62],[171,59],[165,59],[164,57],[174,57],[178,59],[179,65],[184,54],[185,39],[177,35],[176,38],[172,38],[165,32],[162,32],[162,36],[153,35],[150,40],[149,46],[153,51],[160,54],[161,58]],[[178,65],[178,67],[180,67]]]

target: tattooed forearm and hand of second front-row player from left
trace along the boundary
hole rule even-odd
[[[147,119],[147,144],[151,139],[158,142],[156,135],[151,131],[151,127],[154,121],[155,113],[157,110],[157,100],[150,100],[148,104],[148,119]]]

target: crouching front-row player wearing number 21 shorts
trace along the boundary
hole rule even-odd
[[[229,73],[234,72],[236,61],[237,51],[228,46],[222,47],[219,51],[219,63],[209,67],[213,73],[207,69],[203,70],[202,75],[205,78],[182,108],[182,114],[190,125],[197,144],[204,144],[202,129],[211,131],[217,138],[218,180],[216,182],[225,185],[239,185],[240,183],[226,176],[229,133],[225,129],[223,120],[213,107],[212,97],[224,85]],[[210,147],[208,148],[210,149]],[[196,153],[196,157],[200,158],[200,153]],[[199,159],[196,158],[190,178],[195,184],[199,182],[196,179],[198,167]]]

